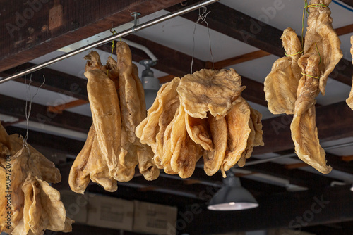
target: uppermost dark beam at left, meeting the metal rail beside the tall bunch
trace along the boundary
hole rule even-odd
[[[25,70],[32,67],[33,63],[25,63],[19,65],[16,68],[11,68],[4,72],[0,72],[1,77],[13,75],[16,72]],[[43,68],[42,70],[32,72],[31,75],[27,75],[27,83],[29,82],[30,76],[32,76],[32,86],[40,87],[43,82],[43,76],[45,77],[45,83],[42,85],[42,89],[49,91],[58,92],[65,94],[66,96],[72,96],[77,99],[88,101],[87,96],[87,80],[81,79],[76,76],[68,75],[64,72],[52,70],[50,68]],[[24,77],[20,77],[15,80],[16,82],[25,83]]]

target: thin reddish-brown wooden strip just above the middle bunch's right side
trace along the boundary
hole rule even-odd
[[[225,68],[228,67],[230,65],[236,65],[237,63],[243,63],[246,61],[251,61],[251,60],[255,60],[257,58],[261,58],[263,56],[269,56],[271,53],[267,52],[267,51],[263,51],[263,50],[259,50],[259,51],[253,51],[250,53],[246,53],[244,55],[240,55],[240,56],[235,56],[232,58],[227,58],[223,61],[217,61],[214,63],[213,68],[215,70],[220,70],[221,68]],[[206,62],[206,68],[212,68],[212,62],[207,61]]]

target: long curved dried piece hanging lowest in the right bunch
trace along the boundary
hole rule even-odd
[[[323,174],[332,168],[326,165],[325,151],[320,146],[318,128],[315,122],[315,98],[319,93],[318,64],[320,57],[316,53],[306,53],[299,59],[303,75],[299,81],[298,99],[295,102],[294,117],[290,129],[298,157]]]

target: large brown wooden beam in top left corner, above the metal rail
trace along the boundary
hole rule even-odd
[[[145,16],[179,2],[6,1],[1,5],[0,71],[128,23],[133,20],[131,12]]]

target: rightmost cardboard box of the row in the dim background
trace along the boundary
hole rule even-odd
[[[134,201],[134,203],[133,231],[162,235],[177,234],[178,209],[176,207],[140,201]]]

